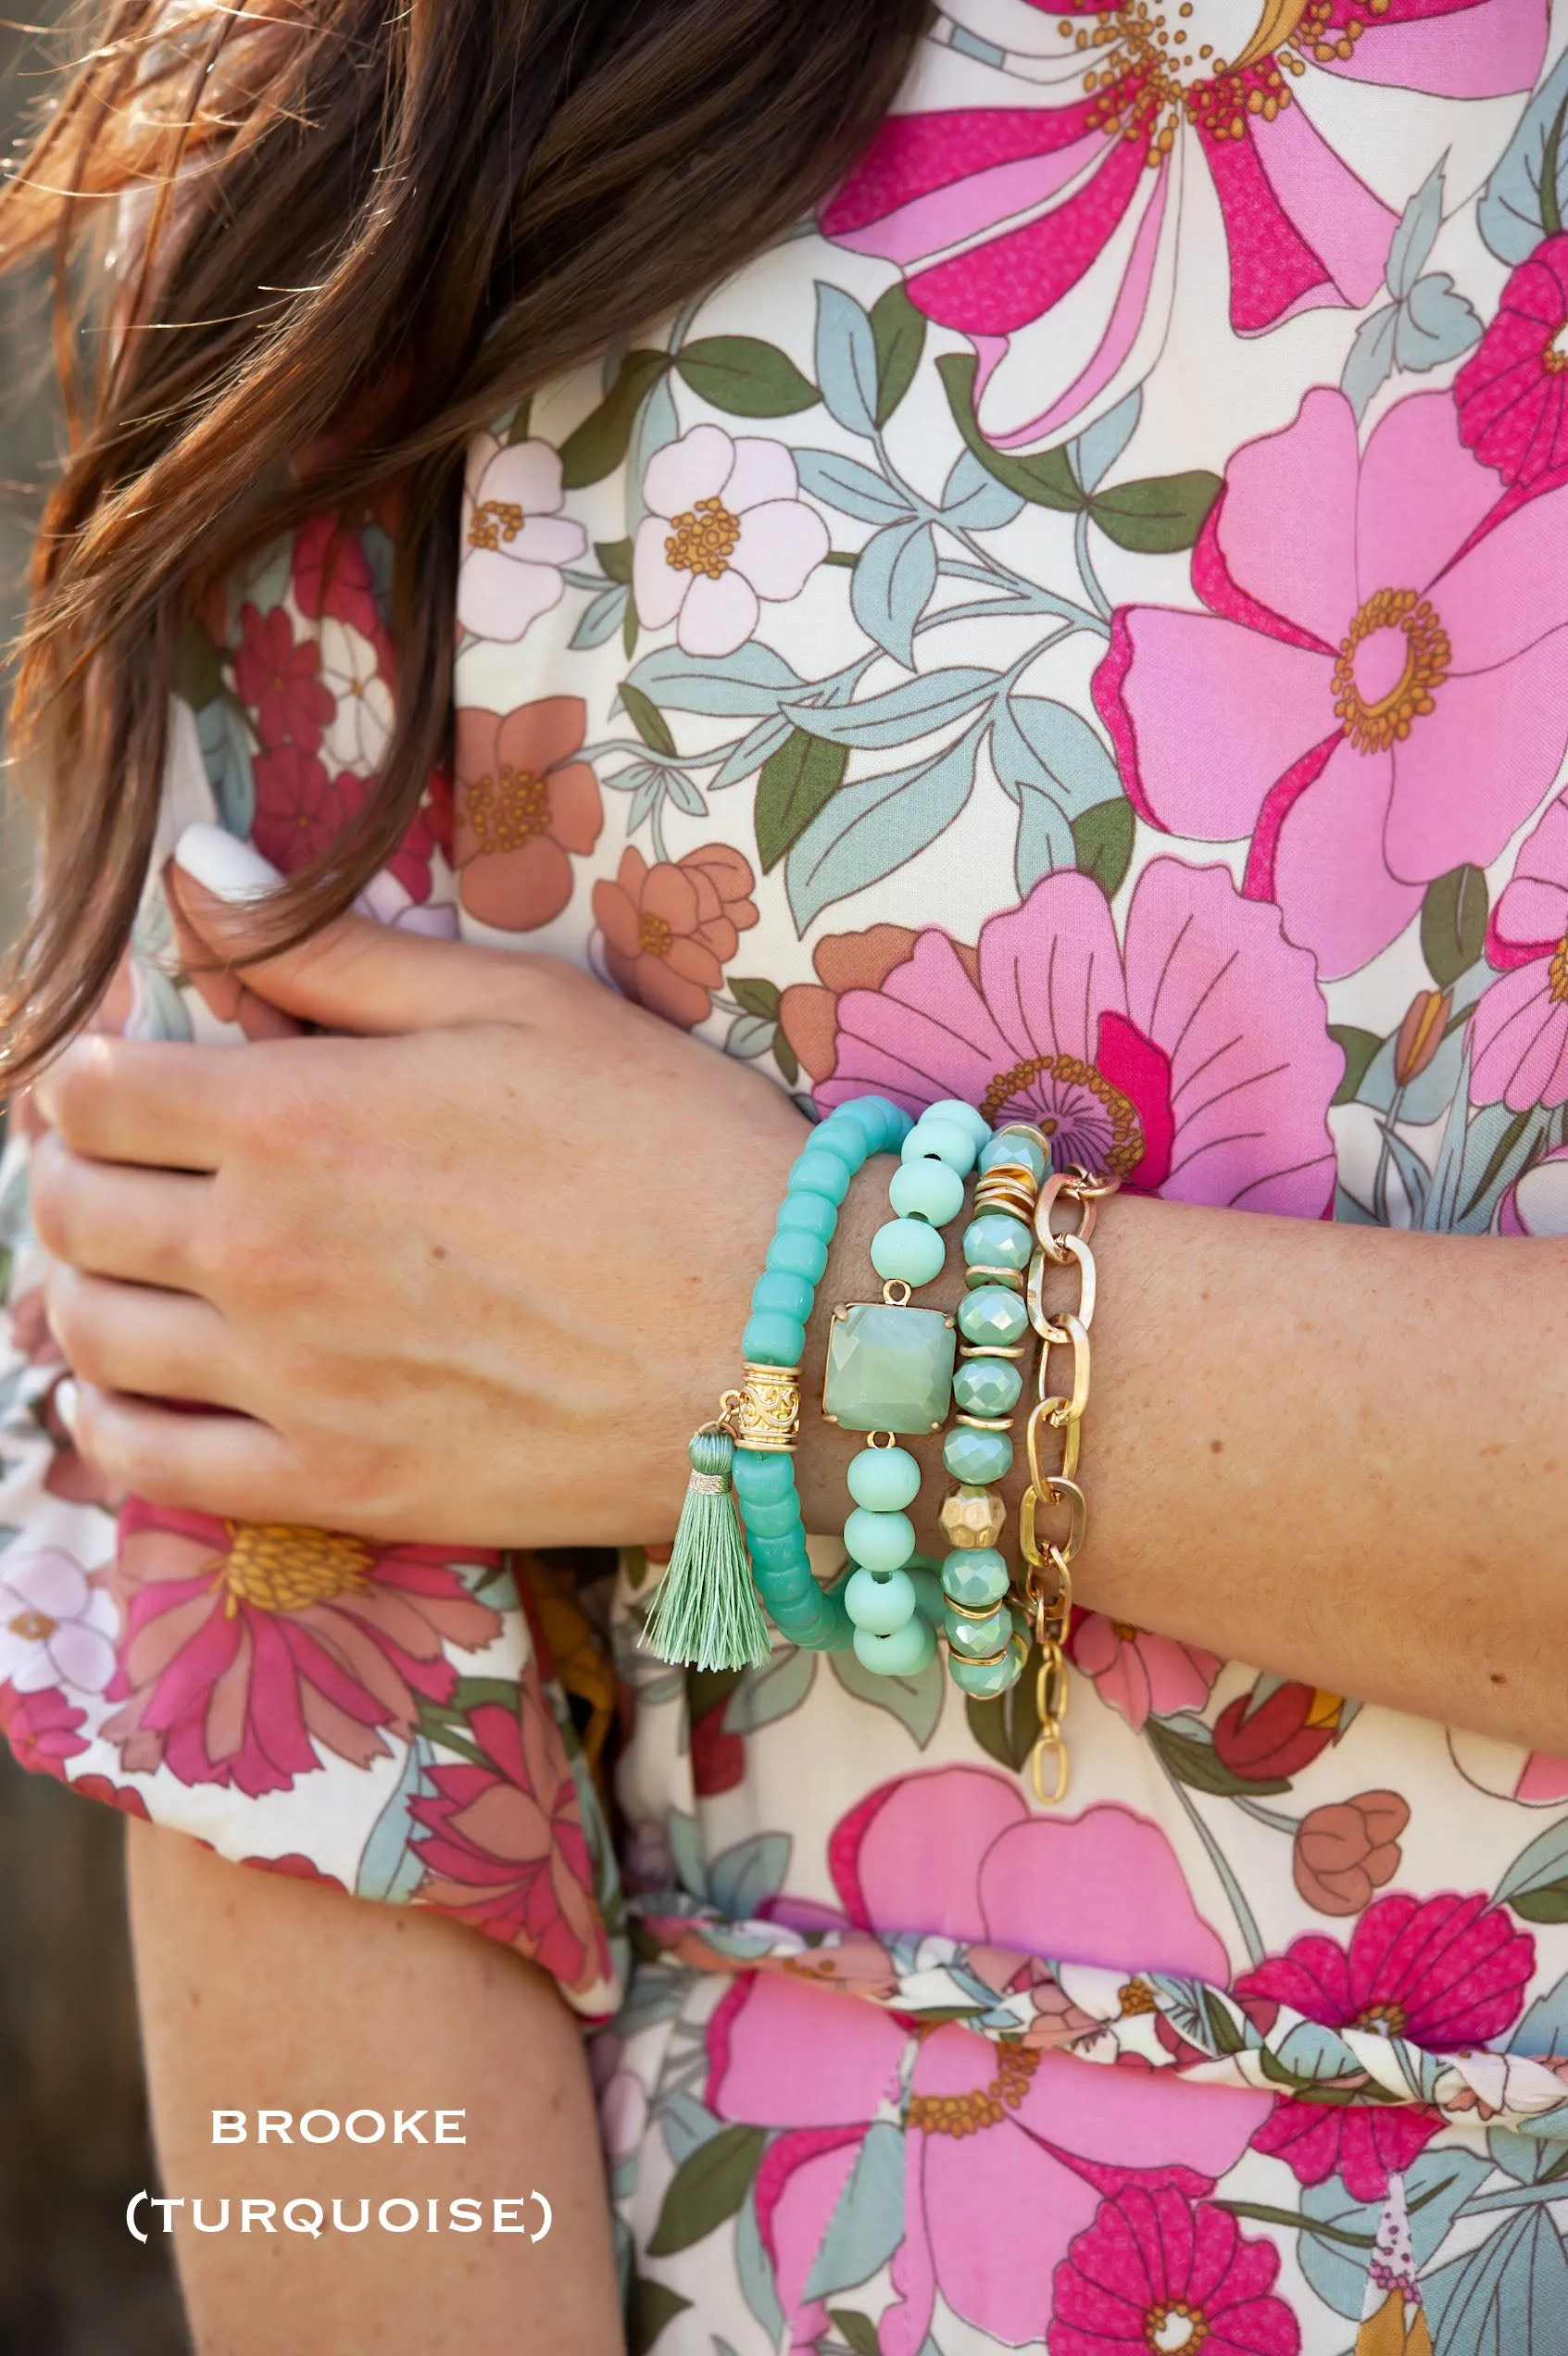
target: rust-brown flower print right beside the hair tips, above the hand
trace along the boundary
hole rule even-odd
[[[580,695],[457,714],[453,865],[481,924],[533,933],[571,900],[571,855],[592,851],[604,825],[599,780],[578,761],[585,726]]]

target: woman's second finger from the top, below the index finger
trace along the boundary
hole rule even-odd
[[[210,1178],[87,1162],[45,1131],[28,1171],[38,1239],[57,1260],[97,1277],[193,1289],[193,1242],[207,1216]]]

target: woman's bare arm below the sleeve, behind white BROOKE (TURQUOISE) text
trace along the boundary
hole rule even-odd
[[[252,1873],[144,1824],[130,1826],[130,1904],[163,2193],[184,2201],[170,2215],[198,2356],[622,2347],[582,2038],[545,1972],[439,1915]],[[243,2144],[212,2142],[215,2109],[245,2113]],[[259,2111],[288,2111],[292,2139],[274,2125],[257,2142]],[[375,2111],[387,2137],[314,2144],[299,2135],[309,2111],[340,2123]],[[396,2111],[420,2113],[401,2144]],[[434,2142],[436,2111],[462,2113],[448,2123],[462,2144]],[[356,2135],[370,2132],[361,2118]],[[535,2189],[552,2210],[538,2243]],[[207,2231],[196,2231],[196,2198]],[[224,2201],[229,2229],[212,2231]],[[257,2203],[250,2231],[243,2201]],[[307,2226],[309,2203],[323,2205],[318,2241],[283,2224],[292,2201],[307,2203],[292,2212]],[[335,2231],[335,2201],[349,2226],[368,2201],[368,2229]],[[384,2201],[413,2201],[415,2231],[382,2231]],[[479,2205],[481,2231],[453,2231],[453,2201]],[[495,2201],[521,2203],[502,2210],[509,2231],[493,2229]],[[391,2219],[406,2224],[408,2210]],[[151,2210],[139,2222],[160,2231]]]

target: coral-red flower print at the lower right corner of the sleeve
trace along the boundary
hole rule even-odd
[[[465,1732],[481,1762],[431,1767],[434,1798],[410,1809],[424,1828],[420,1904],[516,1948],[564,1988],[599,1986],[611,1955],[561,1729],[523,1687],[516,1710],[483,1701]]]

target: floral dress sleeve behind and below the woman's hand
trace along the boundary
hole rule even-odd
[[[186,634],[158,846],[104,1027],[203,1044],[292,1027],[233,975],[186,971],[163,872],[191,820],[288,872],[354,815],[391,721],[387,556],[373,523],[304,525]],[[436,785],[365,912],[455,933],[446,841]],[[580,1581],[526,1555],[101,1496],[59,1418],[26,1152],[24,1112],[0,1164],[0,1729],[17,1760],[243,1864],[434,1906],[540,1963],[587,2019],[611,2014],[625,1941],[589,1758],[608,1666]]]

